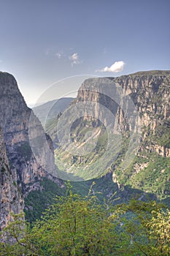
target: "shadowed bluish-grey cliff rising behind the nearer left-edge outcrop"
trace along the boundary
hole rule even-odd
[[[50,155],[51,159],[47,159],[44,146],[44,143],[50,145],[50,138],[41,141],[41,148],[36,148],[38,157],[35,157],[28,133],[31,131],[31,138],[39,139],[40,135],[45,136],[45,132],[39,119],[26,106],[15,78],[8,73],[0,73],[0,97],[0,125],[7,146],[9,165],[11,170],[17,170],[20,186],[34,182],[37,176],[45,176],[45,166],[48,162],[52,169],[55,167],[53,152]],[[51,150],[53,149],[50,146]]]

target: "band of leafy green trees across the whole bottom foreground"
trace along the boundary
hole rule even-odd
[[[170,254],[170,211],[155,201],[101,204],[91,187],[85,197],[56,197],[33,227],[23,214],[13,219],[1,232],[1,256]]]

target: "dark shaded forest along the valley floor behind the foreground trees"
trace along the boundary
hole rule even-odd
[[[108,173],[107,176],[101,178],[94,178],[90,181],[72,181],[72,192],[77,193],[82,197],[88,194],[88,191],[93,184],[93,194],[97,195],[98,200],[104,203],[105,200],[110,200],[112,198],[113,204],[127,203],[131,198],[140,198],[142,200],[147,200],[148,198],[156,200],[155,195],[144,192],[139,189],[133,189],[131,186],[125,186],[118,189],[117,184],[112,181],[112,173]],[[39,181],[41,190],[35,190],[28,193],[25,197],[25,214],[26,220],[30,223],[39,219],[45,209],[55,202],[55,197],[66,195],[66,184],[64,187],[58,187],[53,181],[43,178]],[[165,202],[168,205],[169,202]]]

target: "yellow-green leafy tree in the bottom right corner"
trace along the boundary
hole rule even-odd
[[[131,200],[117,206],[123,233],[131,236],[134,255],[170,255],[170,211],[155,201]],[[135,254],[136,253],[136,254]]]

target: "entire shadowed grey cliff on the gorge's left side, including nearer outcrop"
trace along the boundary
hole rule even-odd
[[[50,137],[45,135],[39,119],[26,106],[15,78],[4,72],[0,72],[0,113],[0,208],[2,222],[6,222],[9,211],[18,213],[23,209],[20,191],[23,195],[31,191],[42,176],[53,178],[55,163]],[[41,140],[41,136],[45,140]],[[36,145],[35,140],[39,141]],[[60,184],[57,178],[54,180]]]

